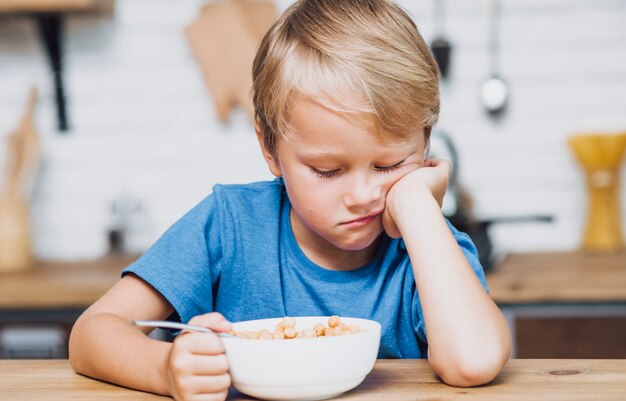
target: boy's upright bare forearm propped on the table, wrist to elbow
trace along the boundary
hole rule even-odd
[[[417,206],[417,207],[416,207]],[[429,360],[449,384],[493,379],[510,352],[510,335],[434,198],[406,208],[398,227],[413,265]]]

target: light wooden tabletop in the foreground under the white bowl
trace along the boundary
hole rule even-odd
[[[357,388],[333,400],[623,401],[626,360],[511,360],[482,387],[457,388],[439,381],[426,360],[378,360]],[[67,360],[0,360],[0,399],[11,401],[171,398],[129,390],[80,376]],[[231,391],[228,400],[251,400]]]

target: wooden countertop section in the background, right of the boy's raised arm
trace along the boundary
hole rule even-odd
[[[626,251],[513,253],[487,283],[498,304],[624,303]]]

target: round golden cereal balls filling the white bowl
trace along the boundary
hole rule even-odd
[[[282,340],[293,338],[315,338],[315,337],[331,337],[341,336],[344,334],[359,333],[361,328],[356,324],[346,325],[341,322],[339,316],[331,316],[328,318],[328,327],[322,323],[317,323],[312,329],[296,330],[296,320],[293,317],[286,316],[276,324],[276,330],[272,333],[269,330],[262,329],[256,331],[232,331],[231,333],[249,339],[260,340]]]

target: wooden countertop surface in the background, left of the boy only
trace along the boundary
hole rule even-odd
[[[137,257],[86,262],[36,262],[32,269],[0,273],[0,309],[86,308]]]

